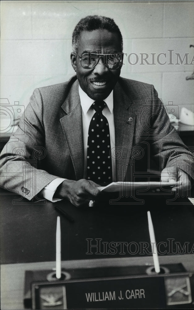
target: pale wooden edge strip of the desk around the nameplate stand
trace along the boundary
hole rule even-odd
[[[160,263],[182,263],[187,271],[194,271],[194,255],[160,256]],[[153,265],[151,256],[109,259],[84,259],[63,261],[62,268],[125,267],[133,265]],[[5,264],[1,266],[1,309],[23,310],[25,270],[55,268],[55,262]]]

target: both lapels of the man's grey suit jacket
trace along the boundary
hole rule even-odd
[[[113,100],[116,178],[117,181],[124,181],[131,154],[136,114],[132,113],[130,108],[132,99],[125,94],[119,83],[114,87]],[[79,180],[84,175],[84,142],[77,80],[73,83],[62,108],[66,115],[60,119],[60,122],[69,147],[76,179]],[[130,117],[131,121],[129,121]]]

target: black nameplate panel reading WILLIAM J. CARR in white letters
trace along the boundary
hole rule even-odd
[[[68,309],[166,307],[162,277],[69,283],[66,296]]]

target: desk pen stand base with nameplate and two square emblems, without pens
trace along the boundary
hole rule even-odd
[[[192,273],[181,263],[26,271],[24,304],[32,309],[189,308]],[[64,278],[64,279],[63,279]],[[193,287],[194,288],[194,287]],[[190,307],[191,308],[191,307]]]

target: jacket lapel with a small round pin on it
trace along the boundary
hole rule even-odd
[[[132,113],[131,99],[119,83],[114,87],[113,99],[116,177],[117,181],[124,181],[131,154],[136,114]]]

